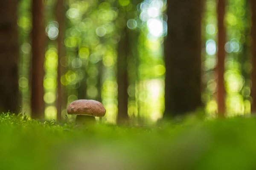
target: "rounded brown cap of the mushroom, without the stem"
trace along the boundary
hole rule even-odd
[[[101,102],[96,100],[76,100],[67,107],[67,113],[71,115],[88,115],[95,117],[105,116],[106,109]]]

